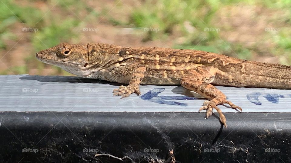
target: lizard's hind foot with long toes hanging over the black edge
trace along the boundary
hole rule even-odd
[[[225,104],[229,104],[230,107],[232,107],[233,109],[239,109],[240,111],[243,111],[243,109],[241,107],[236,106],[235,104],[233,104],[230,101],[224,101],[221,104],[224,104],[224,103]],[[204,101],[203,106],[200,107],[200,109],[199,109],[199,112],[202,111],[202,110],[206,110],[206,117],[208,118],[213,113],[212,112],[212,108],[214,108],[218,112],[220,121],[225,126],[225,128],[227,128],[226,118],[223,115],[222,111],[216,106],[215,102],[213,102],[213,101]]]

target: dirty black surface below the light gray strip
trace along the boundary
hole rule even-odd
[[[291,161],[291,113],[225,113],[227,129],[217,117],[205,120],[204,116],[177,112],[0,112],[0,160],[167,162],[169,150],[173,150],[176,162]],[[96,153],[106,155],[95,157]]]

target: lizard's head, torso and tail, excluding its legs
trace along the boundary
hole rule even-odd
[[[85,78],[129,83],[130,77],[117,81],[116,68],[132,64],[146,67],[141,84],[180,85],[189,71],[212,66],[218,73],[212,84],[236,87],[291,88],[291,66],[252,62],[200,50],[159,47],[124,47],[105,43],[61,43],[40,51],[36,57],[46,63]]]

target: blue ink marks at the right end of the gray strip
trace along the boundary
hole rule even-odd
[[[256,105],[262,105],[261,101],[259,101],[259,96],[263,96],[267,101],[273,104],[279,104],[279,97],[285,98],[282,94],[269,94],[269,93],[250,93],[246,95],[246,98]],[[291,97],[291,94],[287,94],[287,96]]]

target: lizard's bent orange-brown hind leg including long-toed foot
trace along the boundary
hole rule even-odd
[[[204,106],[202,106],[199,111],[207,110],[206,117],[208,118],[210,115],[212,115],[212,108],[216,109],[219,114],[220,121],[227,128],[226,118],[216,105],[226,103],[234,109],[239,109],[242,111],[242,108],[234,105],[230,101],[226,101],[226,96],[216,87],[210,84],[215,80],[216,75],[223,75],[223,73],[224,72],[212,66],[198,67],[196,69],[189,70],[187,75],[182,77],[181,85],[208,98],[210,101],[205,101],[203,104]]]

